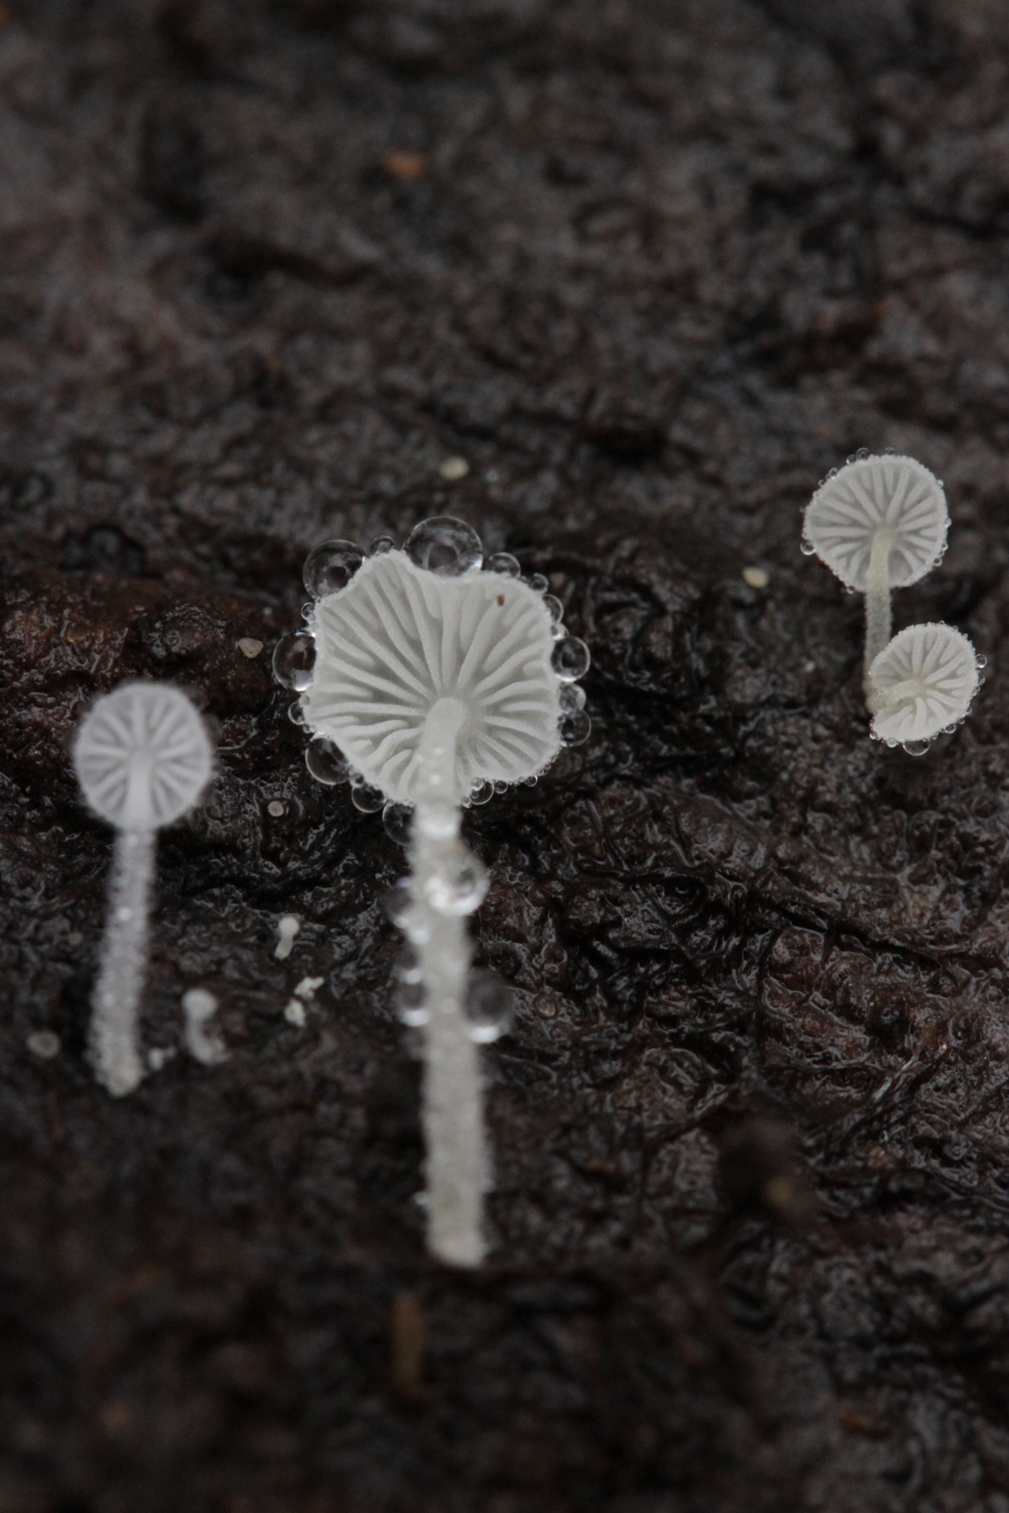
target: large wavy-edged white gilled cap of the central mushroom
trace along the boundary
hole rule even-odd
[[[312,628],[306,722],[395,803],[416,800],[421,734],[439,699],[464,707],[463,794],[477,782],[520,782],[557,756],[554,629],[528,584],[478,569],[442,576],[386,552],[316,602]]]

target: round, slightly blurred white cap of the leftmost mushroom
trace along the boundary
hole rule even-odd
[[[153,831],[191,809],[213,770],[206,725],[168,682],[124,682],[98,699],[74,741],[85,799],[109,825]]]

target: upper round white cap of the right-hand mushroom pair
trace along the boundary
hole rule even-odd
[[[880,527],[893,539],[889,584],[905,589],[935,567],[948,523],[942,484],[914,457],[859,457],[820,484],[803,536],[843,584],[865,593]]]

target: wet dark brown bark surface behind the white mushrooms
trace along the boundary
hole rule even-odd
[[[1004,8],[0,21],[3,1513],[1006,1513]],[[948,492],[897,628],[989,660],[921,761],[799,551],[858,446]],[[402,852],[269,678],[312,545],[446,511],[593,652],[590,741],[466,822],[516,994],[473,1277],[414,1201]],[[67,741],[127,676],[219,767],[113,1101]]]

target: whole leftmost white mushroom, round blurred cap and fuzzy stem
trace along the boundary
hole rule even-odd
[[[163,682],[127,682],[85,716],[74,769],[88,805],[116,829],[89,1049],[98,1082],[123,1097],[144,1076],[136,1020],[147,973],[154,835],[198,802],[210,781],[213,747],[185,693]]]

